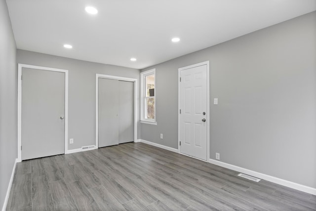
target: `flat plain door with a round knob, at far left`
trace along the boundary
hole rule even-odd
[[[22,160],[65,153],[65,73],[22,68]]]

